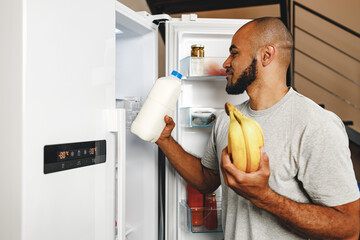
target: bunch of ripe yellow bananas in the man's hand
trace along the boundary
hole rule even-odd
[[[260,147],[264,146],[264,136],[260,125],[244,116],[230,103],[225,104],[230,116],[228,152],[233,164],[244,172],[254,172],[260,165]]]

